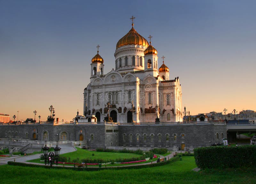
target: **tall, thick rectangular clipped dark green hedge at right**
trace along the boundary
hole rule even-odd
[[[201,169],[255,167],[256,146],[211,146],[194,149],[197,167]]]

